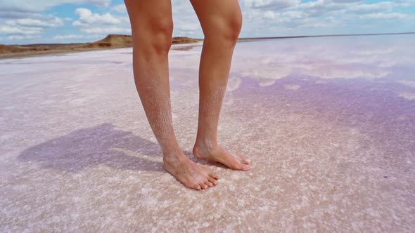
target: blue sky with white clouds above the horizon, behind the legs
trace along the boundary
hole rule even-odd
[[[204,0],[199,0],[204,1]],[[415,32],[415,0],[239,0],[240,37]],[[172,0],[173,36],[203,39],[188,0]],[[124,1],[0,0],[0,44],[78,43],[131,34]]]

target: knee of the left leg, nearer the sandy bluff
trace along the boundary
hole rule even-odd
[[[166,54],[172,46],[172,19],[150,19],[141,28],[136,29],[134,44],[141,51]]]

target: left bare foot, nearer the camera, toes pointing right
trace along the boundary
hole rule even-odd
[[[217,185],[219,176],[208,168],[191,161],[184,154],[165,155],[163,168],[191,189],[207,189]]]

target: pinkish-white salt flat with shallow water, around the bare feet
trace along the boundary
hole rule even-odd
[[[185,154],[222,177],[162,170],[132,49],[0,60],[1,232],[411,232],[414,36],[239,43],[219,143],[252,171],[191,154],[200,47],[170,52]]]

